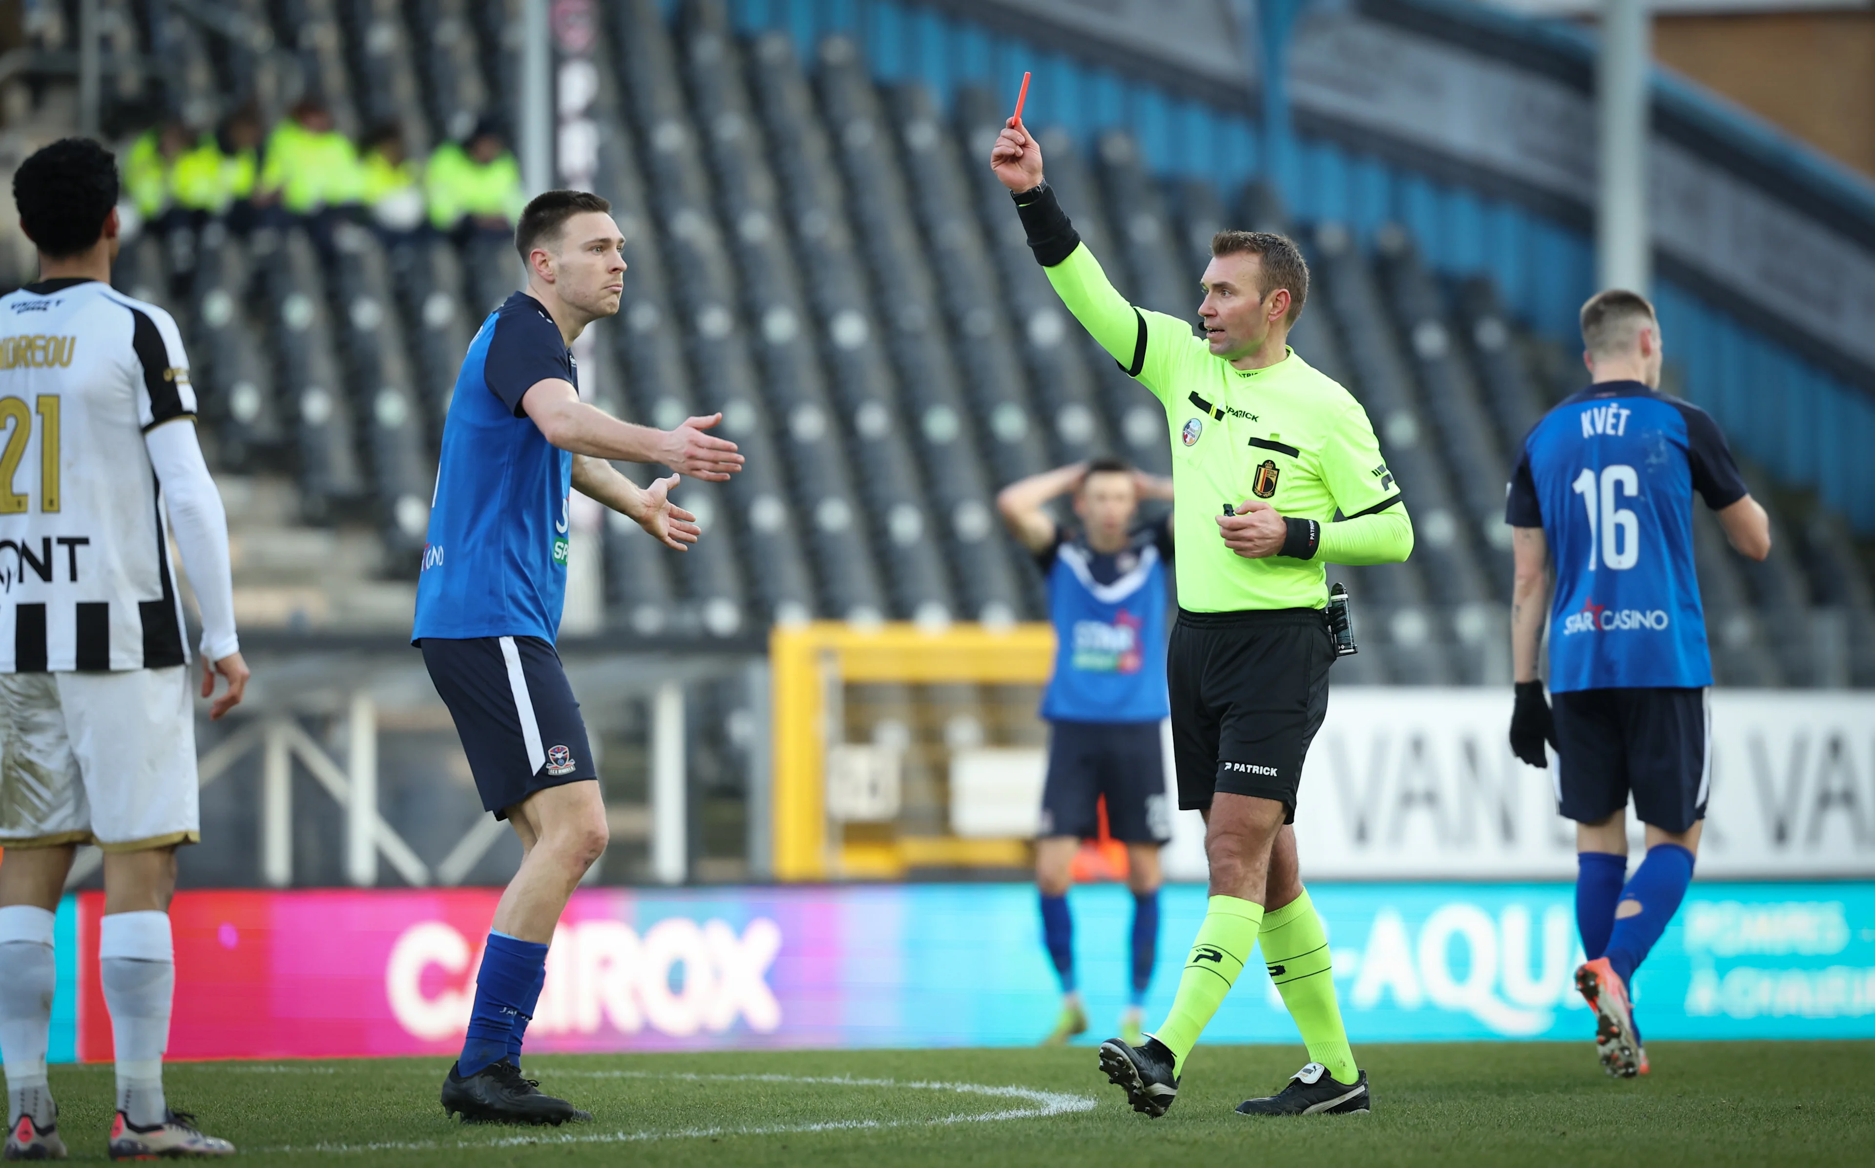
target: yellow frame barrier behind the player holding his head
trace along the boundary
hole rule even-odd
[[[776,628],[769,636],[774,750],[776,879],[892,877],[908,866],[1026,861],[1020,840],[922,836],[844,844],[827,840],[827,692],[849,682],[1041,684],[1054,666],[1054,628],[990,630],[952,624],[924,632],[909,622],[872,630],[838,621]]]

